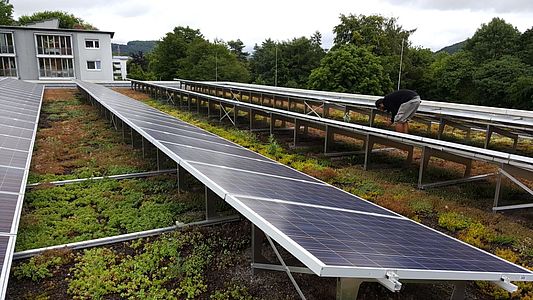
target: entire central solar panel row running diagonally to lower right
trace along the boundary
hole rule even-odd
[[[393,270],[405,279],[533,280],[520,266],[148,105],[105,87],[77,84],[318,275],[384,278]]]

